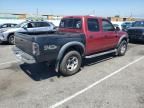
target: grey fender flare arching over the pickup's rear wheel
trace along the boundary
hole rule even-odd
[[[59,71],[59,64],[60,64],[60,60],[62,59],[63,57],[63,54],[65,53],[65,51],[72,47],[72,46],[80,46],[82,49],[83,49],[83,53],[85,54],[85,45],[81,42],[78,42],[78,41],[72,41],[72,42],[68,42],[66,43],[65,45],[62,46],[62,48],[60,49],[59,53],[58,53],[58,56],[57,56],[57,59],[56,59],[56,64],[55,64],[55,71],[58,72]]]

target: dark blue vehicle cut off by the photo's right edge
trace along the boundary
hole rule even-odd
[[[144,42],[144,21],[136,21],[127,31],[130,41]]]

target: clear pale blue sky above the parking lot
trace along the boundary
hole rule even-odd
[[[0,13],[144,17],[144,0],[0,0]]]

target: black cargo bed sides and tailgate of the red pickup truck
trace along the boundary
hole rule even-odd
[[[15,33],[15,44],[16,47],[23,52],[34,56],[32,53],[32,44],[33,42],[37,43],[40,50],[40,55],[37,56],[38,61],[47,61],[47,59],[50,58],[49,56],[51,56],[51,58],[56,58],[60,48],[68,42],[79,41],[85,43],[84,37],[82,33]],[[45,46],[49,45],[57,46],[56,50],[45,50]],[[41,60],[39,60],[39,58]]]

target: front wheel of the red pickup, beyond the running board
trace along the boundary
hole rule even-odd
[[[124,56],[126,51],[127,51],[127,42],[125,40],[123,40],[119,47],[117,48],[117,55],[118,56]]]

